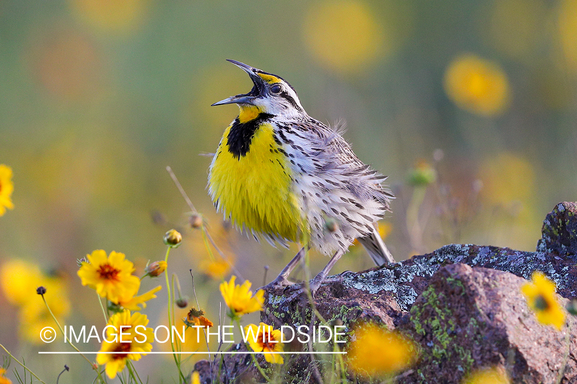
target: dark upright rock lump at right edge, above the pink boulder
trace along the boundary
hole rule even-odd
[[[563,203],[543,221],[542,238],[537,251],[551,252],[562,258],[577,258],[577,203]]]

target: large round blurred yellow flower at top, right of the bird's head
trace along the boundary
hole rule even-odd
[[[358,72],[383,51],[385,31],[364,1],[324,1],[309,7],[303,33],[310,52],[325,66]]]

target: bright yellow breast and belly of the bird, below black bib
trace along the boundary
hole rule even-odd
[[[249,230],[297,241],[301,227],[291,170],[270,124],[254,133],[249,151],[240,157],[227,146],[230,127],[213,158],[209,190],[213,202],[231,221]]]

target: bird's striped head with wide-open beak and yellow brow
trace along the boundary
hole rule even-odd
[[[282,77],[261,71],[235,60],[227,60],[246,73],[253,81],[253,88],[249,93],[237,94],[215,102],[212,105],[238,104],[241,113],[253,111],[270,115],[298,116],[306,115],[298,100],[297,92]],[[256,108],[255,108],[256,107]],[[256,109],[256,111],[255,111]]]

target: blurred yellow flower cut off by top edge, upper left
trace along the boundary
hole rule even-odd
[[[147,17],[148,0],[69,0],[70,7],[103,31],[130,31]]]

